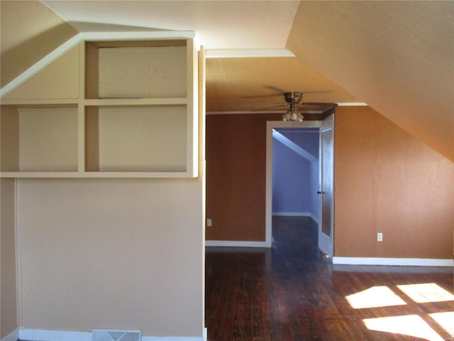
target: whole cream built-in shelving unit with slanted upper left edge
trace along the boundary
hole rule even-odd
[[[84,41],[1,99],[1,177],[194,178],[196,82],[192,39]]]

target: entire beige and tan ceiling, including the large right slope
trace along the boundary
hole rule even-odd
[[[6,3],[14,11],[4,14]],[[208,55],[287,48],[297,56],[208,59],[207,111],[273,107],[283,91],[305,92],[304,102],[366,102],[454,161],[453,12],[454,1],[2,0],[1,84],[9,67],[26,70],[26,51],[49,50],[74,31],[196,31]],[[20,38],[21,30],[48,41]],[[11,50],[18,60],[6,58]]]

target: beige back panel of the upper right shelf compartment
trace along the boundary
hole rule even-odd
[[[186,46],[100,48],[100,98],[186,97]]]

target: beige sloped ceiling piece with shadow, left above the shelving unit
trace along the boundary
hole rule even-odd
[[[0,1],[1,87],[77,34],[40,1]]]

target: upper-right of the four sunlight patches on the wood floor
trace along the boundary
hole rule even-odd
[[[397,286],[416,303],[454,301],[454,295],[436,283],[406,284]]]

